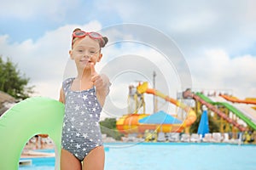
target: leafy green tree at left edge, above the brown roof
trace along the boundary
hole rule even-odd
[[[3,60],[0,55],[0,90],[13,96],[15,99],[26,99],[33,93],[33,86],[28,87],[29,78],[21,75],[18,65],[11,59]]]

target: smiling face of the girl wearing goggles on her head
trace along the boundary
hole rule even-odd
[[[102,59],[99,42],[89,36],[77,39],[69,54],[79,70],[90,69],[91,62],[96,65]]]

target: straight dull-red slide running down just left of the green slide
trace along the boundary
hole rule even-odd
[[[191,97],[191,98],[199,101],[202,105],[206,105],[208,109],[210,109],[211,111],[218,114],[218,116],[222,117],[227,122],[230,122],[232,125],[237,127],[240,131],[247,130],[246,127],[242,127],[236,121],[232,120],[229,116],[226,116],[226,114],[223,111],[218,110],[218,108],[214,106],[214,105],[223,104],[223,103],[213,102],[211,99],[207,98],[207,96],[205,96],[201,93],[192,94],[190,91],[186,91],[183,93],[183,95],[184,95],[184,97]],[[225,104],[224,104],[224,106],[225,106]],[[236,116],[240,117],[243,121],[246,120],[247,122],[249,122],[249,120],[247,120],[247,117],[243,116],[239,111],[235,111],[234,113],[236,114]]]

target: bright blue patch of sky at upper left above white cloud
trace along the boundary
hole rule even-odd
[[[91,20],[100,20],[102,26],[110,26],[122,22],[119,15],[111,10],[97,8],[99,3],[96,1],[17,2],[5,2],[1,7],[1,34],[9,34],[11,42],[22,42],[28,38],[37,40],[45,31],[68,24],[84,25]],[[54,7],[50,7],[52,3]],[[17,8],[18,11],[15,11]]]

